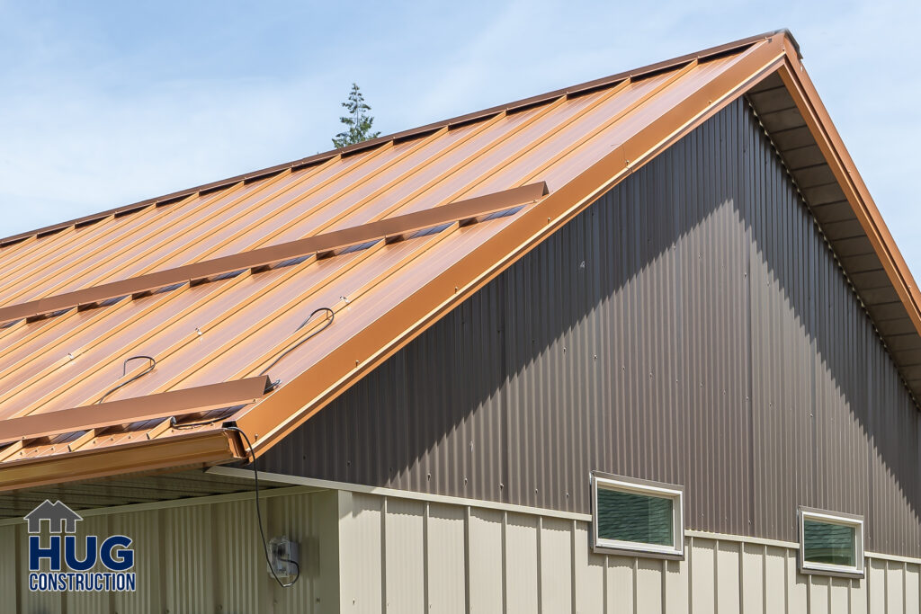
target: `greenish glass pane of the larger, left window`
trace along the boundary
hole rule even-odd
[[[671,546],[674,502],[635,492],[598,489],[598,537]]]

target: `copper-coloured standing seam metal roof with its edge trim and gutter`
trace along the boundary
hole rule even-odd
[[[120,280],[130,286],[146,273],[169,280],[153,294],[99,295],[79,309],[62,299],[41,319],[0,322],[0,489],[242,458],[225,421],[262,453],[633,168],[765,77],[799,70],[795,49],[784,32],[753,37],[0,240],[7,311],[76,290],[99,294]],[[194,284],[181,278],[191,264],[249,262],[256,249],[346,228],[361,236],[381,219],[542,181],[549,196],[476,220],[298,253],[270,270],[247,264]],[[322,329],[321,314],[298,330],[318,307],[334,311],[332,325]],[[223,408],[192,402],[193,390],[259,376],[315,332],[272,366],[278,387],[262,397]],[[185,404],[154,419],[128,409],[125,423],[100,423],[111,414],[94,401],[146,368],[131,363],[122,377],[122,360],[135,354],[156,356],[156,367],[106,405],[141,408],[157,395]],[[167,414],[214,422],[179,430]],[[85,424],[74,420],[81,415]],[[5,422],[10,433],[25,424],[40,436],[6,442]]]

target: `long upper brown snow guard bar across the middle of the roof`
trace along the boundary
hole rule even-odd
[[[485,196],[416,211],[411,214],[396,215],[362,226],[334,230],[267,248],[252,249],[251,251],[231,254],[208,261],[185,264],[175,269],[146,273],[137,277],[111,282],[110,284],[99,284],[82,290],[75,290],[74,292],[46,296],[27,303],[0,307],[0,322],[35,318],[71,307],[95,305],[110,298],[139,295],[173,284],[208,279],[227,272],[271,266],[292,258],[361,245],[376,239],[399,237],[416,230],[424,230],[433,226],[470,220],[494,214],[498,211],[505,211],[521,204],[536,201],[547,193],[547,184],[544,181],[529,183],[519,188],[497,191]]]

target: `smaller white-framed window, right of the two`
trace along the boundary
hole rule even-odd
[[[863,518],[799,508],[799,570],[863,577]]]

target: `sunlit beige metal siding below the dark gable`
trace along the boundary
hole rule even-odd
[[[607,556],[591,552],[585,520],[359,492],[339,504],[343,612],[919,611],[917,562],[869,558],[865,580],[807,576],[783,542],[700,533],[684,561]],[[353,563],[374,561],[389,562],[380,582],[379,566]]]

